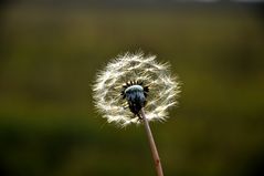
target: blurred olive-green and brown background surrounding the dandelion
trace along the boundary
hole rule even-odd
[[[151,123],[167,176],[260,176],[263,3],[2,0],[0,175],[155,175],[142,126],[95,112],[96,71],[119,53],[169,61],[179,106]]]

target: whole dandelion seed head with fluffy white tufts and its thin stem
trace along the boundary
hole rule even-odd
[[[95,105],[108,123],[120,126],[144,123],[157,173],[161,164],[148,122],[165,121],[168,108],[177,104],[179,83],[168,63],[142,53],[118,55],[97,74],[93,86]]]

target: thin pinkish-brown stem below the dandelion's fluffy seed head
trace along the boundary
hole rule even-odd
[[[151,130],[149,127],[148,120],[146,118],[146,114],[145,114],[144,108],[141,108],[140,115],[144,120],[144,126],[145,126],[146,133],[148,135],[148,142],[149,142],[149,145],[150,145],[150,148],[151,148],[152,158],[154,158],[154,162],[155,162],[155,167],[156,167],[157,175],[158,176],[163,176],[161,162],[160,162],[160,158],[159,158],[159,153],[157,151],[157,147],[156,147],[156,144],[155,144],[155,141],[154,141],[154,136],[152,136]]]

